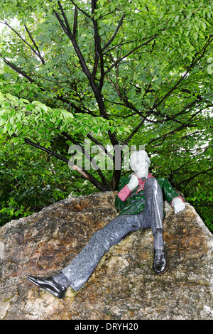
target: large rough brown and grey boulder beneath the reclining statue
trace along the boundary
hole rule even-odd
[[[153,273],[153,236],[140,230],[111,247],[84,287],[60,300],[26,280],[58,273],[116,217],[116,193],[55,203],[0,229],[0,318],[9,320],[213,319],[213,238],[187,204],[164,219],[168,268]]]

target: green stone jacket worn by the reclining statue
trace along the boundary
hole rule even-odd
[[[120,191],[122,188],[124,188],[124,186],[129,183],[129,180],[129,178],[121,178],[118,190]],[[168,203],[171,204],[173,198],[179,197],[178,193],[176,193],[166,178],[156,178],[156,180],[160,185],[164,200],[167,200]],[[137,190],[138,187],[133,190],[133,192],[129,195],[128,198],[126,198],[124,202],[119,198],[118,195],[116,195],[115,206],[119,211],[119,215],[137,215],[143,211],[145,205],[145,196],[143,190],[139,191],[138,193]]]

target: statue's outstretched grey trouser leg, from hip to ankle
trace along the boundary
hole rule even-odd
[[[102,230],[95,232],[80,254],[61,271],[70,281],[72,289],[78,291],[84,285],[111,246],[139,228],[137,215],[119,215]]]

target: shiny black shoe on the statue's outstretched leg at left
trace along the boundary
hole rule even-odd
[[[39,278],[35,276],[28,276],[28,281],[40,287],[40,289],[47,290],[50,293],[53,293],[54,296],[58,298],[63,298],[67,288],[56,283],[53,277]]]

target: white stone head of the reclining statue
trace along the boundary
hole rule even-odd
[[[151,161],[146,151],[140,150],[131,153],[130,166],[139,178],[146,178],[148,176],[150,163]]]

